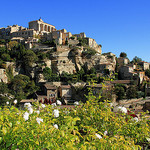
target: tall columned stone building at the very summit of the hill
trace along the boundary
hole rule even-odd
[[[56,31],[55,26],[45,23],[42,19],[30,21],[29,29],[34,29],[40,33],[49,33],[52,31]]]

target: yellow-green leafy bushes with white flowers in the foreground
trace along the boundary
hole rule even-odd
[[[0,110],[0,149],[138,150],[148,145],[150,121],[144,114],[137,121],[112,112],[110,104],[99,102],[92,92],[87,98],[72,109],[26,103],[19,110],[7,103]]]

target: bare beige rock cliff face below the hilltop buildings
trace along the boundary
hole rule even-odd
[[[93,56],[87,58],[83,56],[83,51],[83,47],[75,47],[54,53],[51,64],[53,72],[59,74],[63,71],[75,73],[80,70],[82,66],[85,66],[87,69],[94,67],[97,72],[100,72],[102,65],[106,65],[104,69],[110,69],[111,66],[111,70],[115,70],[116,56],[114,54],[107,53],[102,55],[96,52]],[[107,66],[109,67],[107,68]]]

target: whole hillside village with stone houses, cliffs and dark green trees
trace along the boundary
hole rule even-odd
[[[90,84],[90,83],[93,84]],[[0,28],[0,98],[6,101],[36,99],[64,104],[86,101],[84,94],[111,101],[150,95],[150,64],[125,52],[102,53],[85,33],[57,30],[41,18]]]

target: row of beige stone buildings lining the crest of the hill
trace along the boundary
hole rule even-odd
[[[0,28],[0,39],[9,39],[28,45],[32,48],[33,43],[37,43],[39,39],[42,41],[55,40],[57,45],[65,45],[66,41],[69,45],[77,45],[77,39],[82,38],[86,40],[89,47],[94,48],[101,54],[101,46],[92,38],[86,37],[85,33],[72,34],[65,29],[57,30],[55,26],[45,23],[41,18],[39,20],[30,21],[28,28],[13,25],[7,28]]]

